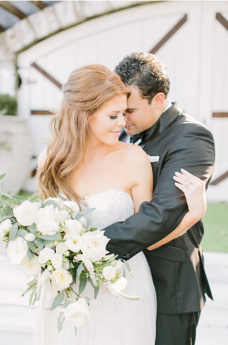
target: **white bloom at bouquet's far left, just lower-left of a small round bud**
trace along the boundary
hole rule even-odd
[[[28,245],[22,238],[18,237],[14,241],[9,242],[6,250],[12,265],[20,266],[25,257],[27,257]]]

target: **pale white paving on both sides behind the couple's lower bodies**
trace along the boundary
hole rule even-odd
[[[228,345],[228,253],[204,252],[204,258],[214,301],[207,298],[195,345]],[[0,276],[0,344],[31,345],[35,308],[28,305],[28,295],[20,296],[27,279],[2,253]]]

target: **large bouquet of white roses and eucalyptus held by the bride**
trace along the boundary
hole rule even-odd
[[[104,231],[89,229],[86,214],[91,211],[93,209],[80,211],[74,201],[60,197],[43,202],[38,196],[26,200],[0,191],[0,250],[6,252],[11,264],[27,277],[38,276],[38,281],[33,279],[28,283],[22,294],[30,292],[30,305],[39,300],[47,280],[55,284],[58,294],[51,309],[61,306],[59,332],[64,319],[75,328],[89,320],[90,299],[80,297],[88,282],[94,288],[95,298],[99,283],[113,294],[128,299],[141,298],[122,292],[127,283],[123,263],[116,260],[114,254],[106,255],[109,239]],[[125,265],[132,274],[129,264],[125,262]]]

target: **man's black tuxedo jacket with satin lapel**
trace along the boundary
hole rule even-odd
[[[184,114],[176,103],[156,124],[142,132],[142,143],[152,162],[154,197],[144,202],[137,214],[105,228],[111,240],[110,253],[123,259],[144,250],[157,294],[157,312],[178,314],[199,311],[205,292],[212,298],[204,271],[201,221],[184,235],[155,250],[145,250],[172,232],[187,212],[186,199],[175,185],[175,171],[184,168],[205,180],[207,186],[214,169],[215,147],[211,132]]]

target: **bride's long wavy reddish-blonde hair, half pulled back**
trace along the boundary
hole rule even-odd
[[[66,198],[83,203],[70,184],[69,174],[82,161],[90,141],[87,117],[114,96],[129,97],[131,91],[117,73],[98,64],[75,69],[62,90],[62,103],[50,122],[53,139],[45,164],[38,170],[38,190],[43,199],[56,197],[61,191]]]

